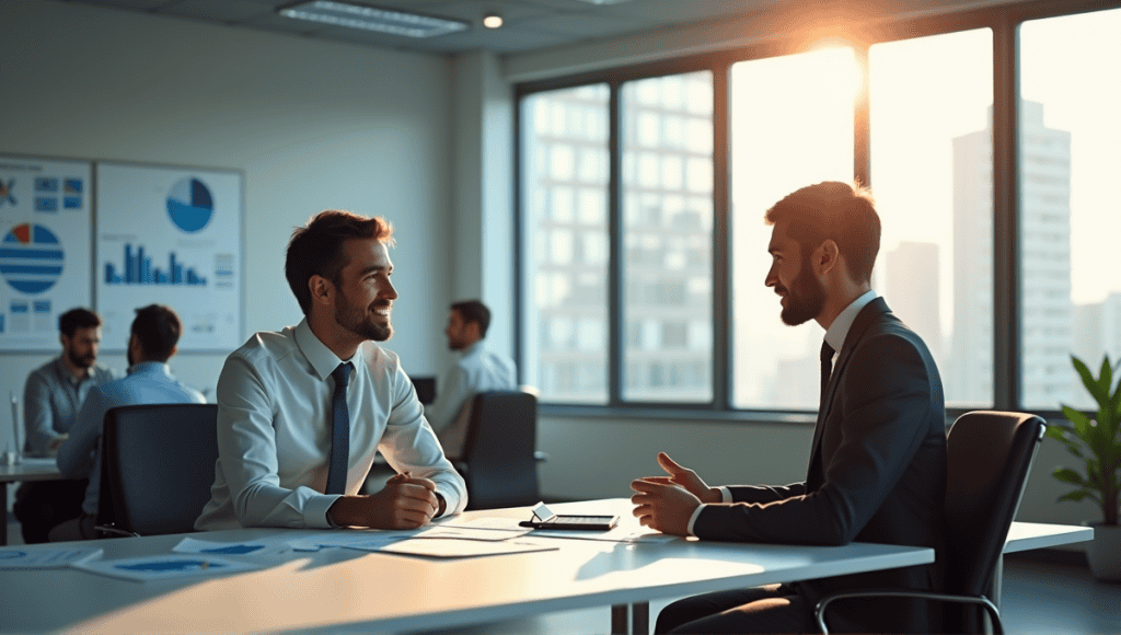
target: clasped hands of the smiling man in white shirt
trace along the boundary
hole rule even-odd
[[[408,472],[393,475],[377,494],[342,496],[327,510],[336,525],[376,530],[415,530],[443,513],[436,484]]]

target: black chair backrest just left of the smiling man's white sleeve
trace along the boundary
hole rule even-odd
[[[216,404],[143,404],[105,413],[98,524],[140,535],[194,530],[217,461]]]

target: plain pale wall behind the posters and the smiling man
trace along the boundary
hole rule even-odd
[[[302,318],[284,279],[293,228],[326,208],[385,215],[400,294],[388,346],[409,371],[443,367],[446,58],[49,1],[4,2],[2,27],[0,153],[243,171],[244,337]],[[50,357],[0,353],[0,396]],[[213,388],[224,358],[172,366]]]

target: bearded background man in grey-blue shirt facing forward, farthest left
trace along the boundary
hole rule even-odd
[[[24,450],[30,455],[54,455],[77,421],[90,389],[120,377],[98,362],[101,318],[96,313],[71,309],[59,315],[58,341],[62,355],[33,370],[24,386]],[[85,488],[85,480],[22,484],[16,491],[13,512],[24,542],[47,542],[52,527],[80,516]]]

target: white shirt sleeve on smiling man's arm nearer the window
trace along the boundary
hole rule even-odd
[[[400,367],[390,386],[393,387],[393,407],[378,450],[398,472],[408,471],[414,477],[435,482],[445,500],[445,516],[458,514],[467,505],[467,486],[444,455],[436,433],[425,421],[424,406]]]

